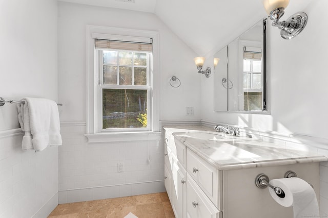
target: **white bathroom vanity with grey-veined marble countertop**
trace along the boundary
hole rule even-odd
[[[165,187],[178,218],[293,217],[292,207],[280,206],[268,188],[255,185],[261,173],[271,180],[294,171],[313,185],[319,202],[324,156],[210,128],[164,129]]]

